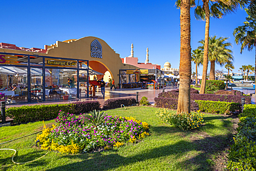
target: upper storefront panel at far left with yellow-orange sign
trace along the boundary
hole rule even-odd
[[[27,55],[6,55],[0,53],[0,64],[6,65],[27,65]]]

